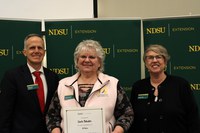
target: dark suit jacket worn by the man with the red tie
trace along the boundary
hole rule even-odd
[[[33,79],[27,65],[5,73],[0,84],[0,133],[48,133],[45,115],[57,90],[59,78],[44,68],[48,94],[44,114],[36,90],[28,90]]]

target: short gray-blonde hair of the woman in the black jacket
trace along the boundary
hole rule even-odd
[[[146,50],[144,52],[144,55],[143,55],[144,62],[145,62],[145,58],[146,58],[146,53],[149,51],[153,51],[159,55],[162,55],[166,62],[168,62],[170,59],[170,55],[168,54],[167,49],[164,46],[159,45],[159,44],[151,44],[146,47]]]

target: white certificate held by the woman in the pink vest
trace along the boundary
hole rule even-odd
[[[65,133],[106,133],[104,116],[103,108],[65,108]]]

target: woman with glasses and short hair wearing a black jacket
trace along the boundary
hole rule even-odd
[[[130,133],[200,133],[198,107],[188,81],[166,73],[165,47],[150,45],[143,61],[149,77],[132,86]]]

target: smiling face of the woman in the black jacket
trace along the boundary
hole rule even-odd
[[[164,73],[167,63],[162,55],[148,51],[145,56],[145,65],[150,74],[160,74]]]

